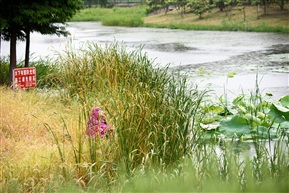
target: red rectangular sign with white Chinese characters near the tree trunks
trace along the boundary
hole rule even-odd
[[[13,70],[14,88],[35,88],[36,68],[15,68]]]

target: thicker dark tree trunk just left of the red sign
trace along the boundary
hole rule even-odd
[[[11,32],[10,37],[10,68],[9,68],[9,82],[8,86],[13,84],[13,70],[16,68],[16,32]]]

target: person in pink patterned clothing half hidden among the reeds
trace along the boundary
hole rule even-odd
[[[87,124],[86,135],[91,138],[95,138],[99,135],[102,138],[110,129],[111,127],[107,125],[103,111],[99,107],[92,109]]]

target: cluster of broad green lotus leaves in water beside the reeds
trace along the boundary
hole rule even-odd
[[[239,95],[225,106],[207,105],[201,127],[225,138],[276,139],[282,135],[280,130],[288,133],[288,99],[284,96],[279,104],[270,103],[255,93]]]

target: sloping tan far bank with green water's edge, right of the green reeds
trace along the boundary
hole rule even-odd
[[[271,5],[267,13],[256,6],[243,9],[231,7],[227,11],[218,8],[204,13],[202,18],[194,13],[181,14],[179,10],[159,13],[144,18],[145,26],[186,30],[281,32],[289,34],[289,11]]]

